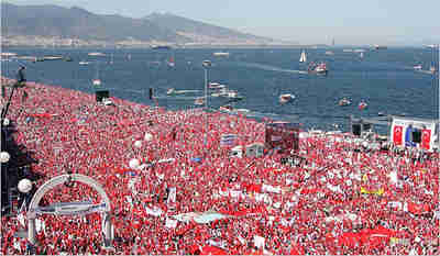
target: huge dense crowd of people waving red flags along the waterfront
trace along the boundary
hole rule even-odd
[[[45,214],[37,218],[36,254],[440,253],[438,154],[360,151],[350,134],[310,133],[297,153],[306,160],[294,165],[267,151],[232,157],[232,146],[264,143],[263,122],[112,101],[34,82],[13,98],[14,140],[44,177],[34,186],[82,174],[111,200],[113,249],[102,246],[101,214]],[[237,137],[223,145],[223,134]],[[56,187],[41,205],[101,200],[75,182]],[[200,222],[190,213],[218,218]],[[2,216],[2,254],[29,249],[16,235],[26,221],[25,210]]]

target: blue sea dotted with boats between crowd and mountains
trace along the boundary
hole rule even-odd
[[[167,109],[195,108],[195,98],[204,96],[205,69],[201,63],[211,60],[208,80],[220,82],[244,97],[233,103],[237,109],[250,110],[256,119],[300,122],[305,129],[334,130],[339,125],[349,130],[349,116],[377,116],[405,114],[407,116],[437,119],[438,78],[431,74],[414,70],[422,65],[428,70],[438,67],[438,53],[431,48],[388,48],[360,53],[343,48],[309,48],[308,62],[326,62],[329,74],[305,74],[307,64],[300,64],[301,49],[96,49],[96,48],[3,48],[19,55],[42,57],[63,55],[73,62],[28,60],[2,62],[2,74],[14,77],[20,64],[26,66],[28,80],[61,86],[94,93],[91,80],[99,78],[110,94],[118,98],[155,105],[148,99],[148,88],[154,89],[161,107]],[[331,51],[334,55],[326,54]],[[106,56],[88,56],[101,52]],[[215,57],[215,52],[228,52],[229,57]],[[167,63],[174,58],[175,66]],[[79,62],[89,65],[79,65]],[[197,90],[193,94],[167,96],[169,88]],[[280,104],[282,93],[295,94],[296,99]],[[346,97],[349,107],[338,105]],[[367,109],[359,110],[365,100]],[[209,107],[218,109],[228,103],[224,98],[209,98]]]

